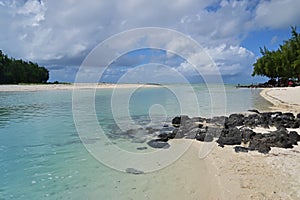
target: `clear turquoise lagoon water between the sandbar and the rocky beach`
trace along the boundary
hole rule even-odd
[[[179,114],[209,117],[270,106],[257,89],[227,85],[224,93],[218,85],[170,88],[81,90],[77,96],[69,90],[0,92],[0,199],[145,197],[155,181],[101,163],[86,148],[102,140],[96,134],[93,138],[78,134],[97,132],[89,124],[91,116],[108,138],[108,146],[138,154],[157,151],[146,144],[153,135],[130,129],[161,128]],[[95,115],[87,112],[90,102]],[[102,153],[108,160],[117,159],[110,152]]]

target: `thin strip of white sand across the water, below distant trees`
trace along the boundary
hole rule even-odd
[[[29,91],[47,91],[47,90],[73,90],[73,89],[101,89],[101,88],[139,88],[139,87],[159,87],[151,84],[25,84],[25,85],[0,85],[0,92],[29,92]]]

